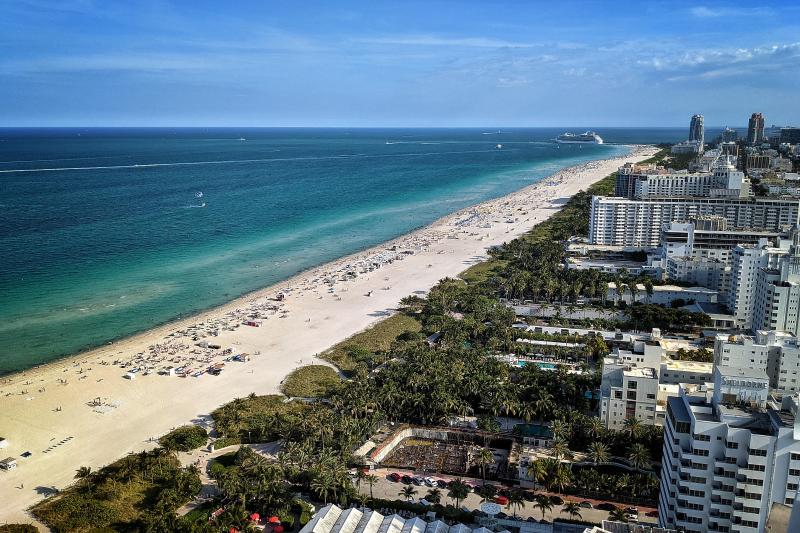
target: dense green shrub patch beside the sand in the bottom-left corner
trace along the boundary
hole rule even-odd
[[[164,448],[120,459],[44,500],[31,513],[54,531],[154,530],[200,490],[196,469],[181,468]],[[162,528],[166,531],[169,528]]]

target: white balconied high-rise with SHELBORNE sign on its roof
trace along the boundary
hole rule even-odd
[[[800,483],[798,397],[768,401],[763,370],[718,366],[713,394],[667,399],[659,525],[686,532],[763,532]]]

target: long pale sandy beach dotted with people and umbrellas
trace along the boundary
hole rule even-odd
[[[315,355],[390,315],[486,258],[488,247],[526,232],[581,189],[625,162],[657,151],[564,169],[521,191],[304,272],[224,306],[0,380],[0,523],[29,522],[25,509],[175,426],[208,419],[219,405],[279,391]],[[209,369],[221,369],[212,375]],[[30,455],[23,458],[25,452]]]

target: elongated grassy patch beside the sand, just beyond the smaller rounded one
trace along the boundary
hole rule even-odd
[[[405,313],[397,313],[323,352],[322,358],[343,372],[352,372],[359,363],[386,352],[400,335],[418,332],[420,323]]]

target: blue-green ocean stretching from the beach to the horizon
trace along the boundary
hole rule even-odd
[[[550,141],[563,131],[0,129],[0,374],[626,152]],[[597,131],[608,143],[687,134]]]

